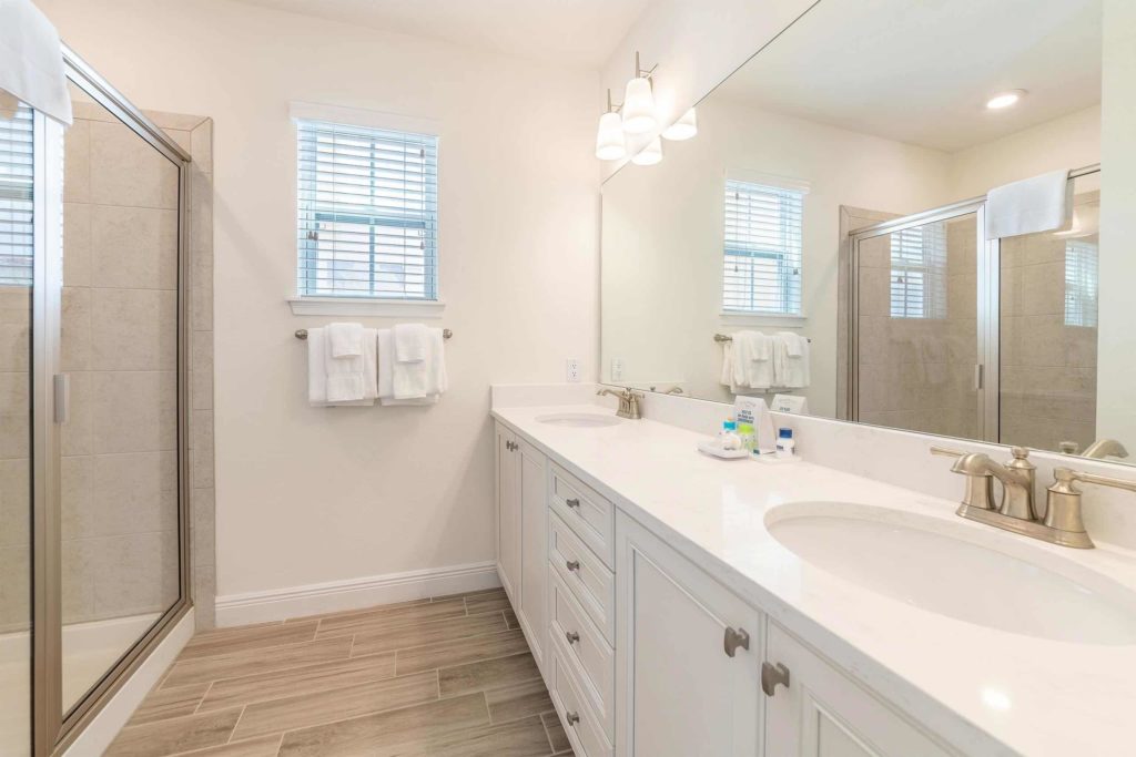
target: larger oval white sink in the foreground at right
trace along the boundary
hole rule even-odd
[[[1136,644],[1136,592],[1021,537],[851,503],[780,505],[766,527],[817,567],[922,609],[1056,641]]]

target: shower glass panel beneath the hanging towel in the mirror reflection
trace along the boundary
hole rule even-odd
[[[1072,228],[1001,241],[1000,441],[1083,452],[1096,439],[1096,175]]]

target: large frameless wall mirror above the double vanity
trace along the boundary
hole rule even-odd
[[[1130,254],[1099,245],[1101,16],[821,0],[604,183],[601,379],[1136,461],[1097,411],[1131,375],[1097,354]]]

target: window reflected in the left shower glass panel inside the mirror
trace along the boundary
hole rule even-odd
[[[946,318],[946,224],[892,233],[892,318]]]

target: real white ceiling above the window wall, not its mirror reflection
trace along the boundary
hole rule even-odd
[[[240,0],[550,64],[600,68],[649,0]]]

